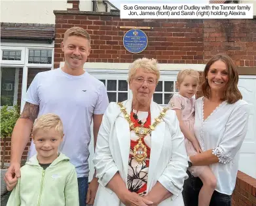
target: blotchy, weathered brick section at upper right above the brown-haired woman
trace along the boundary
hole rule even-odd
[[[238,66],[256,67],[256,19],[204,20],[204,60],[219,52]]]

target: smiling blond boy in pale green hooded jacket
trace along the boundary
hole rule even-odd
[[[58,152],[63,137],[63,124],[56,114],[44,114],[35,121],[32,138],[37,154],[20,169],[7,206],[79,206],[75,167]]]

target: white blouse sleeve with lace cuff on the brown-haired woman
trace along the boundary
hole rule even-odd
[[[221,163],[229,163],[234,158],[246,137],[249,105],[243,101],[242,104],[234,106],[236,108],[229,116],[221,143],[212,150],[212,154],[217,156]]]

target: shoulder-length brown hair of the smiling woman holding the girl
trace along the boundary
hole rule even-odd
[[[215,62],[221,60],[226,64],[228,70],[229,80],[227,82],[227,86],[224,90],[223,100],[227,100],[228,103],[232,104],[242,99],[242,94],[238,90],[238,70],[234,61],[227,56],[227,54],[217,54],[213,56],[208,63],[206,63],[206,67],[203,72],[203,83],[202,83],[202,93],[205,97],[210,97],[210,85],[208,83],[208,79],[206,79],[208,72],[210,70],[211,65]]]

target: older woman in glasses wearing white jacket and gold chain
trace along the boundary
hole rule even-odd
[[[94,165],[96,206],[182,206],[187,154],[175,112],[151,101],[160,72],[156,60],[130,66],[133,98],[110,103],[103,115]]]

